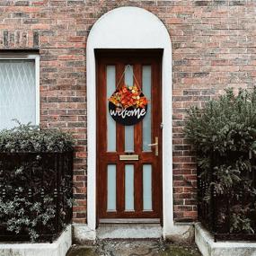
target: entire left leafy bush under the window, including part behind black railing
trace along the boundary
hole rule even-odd
[[[51,241],[71,221],[73,145],[30,124],[0,131],[0,241]]]

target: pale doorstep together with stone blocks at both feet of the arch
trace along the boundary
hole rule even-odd
[[[193,224],[175,224],[171,232],[163,230],[159,223],[137,223],[123,222],[119,223],[101,222],[98,228],[92,229],[85,224],[73,224],[73,243],[92,244],[96,238],[99,239],[159,239],[163,237],[172,243],[194,243],[194,225]]]

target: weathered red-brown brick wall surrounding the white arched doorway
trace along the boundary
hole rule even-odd
[[[75,135],[74,221],[86,223],[86,40],[103,13],[126,5],[154,13],[171,36],[174,214],[191,221],[197,179],[185,110],[255,84],[255,0],[0,0],[0,49],[40,51],[40,123]]]

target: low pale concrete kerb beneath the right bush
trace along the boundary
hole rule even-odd
[[[213,236],[199,223],[195,225],[195,242],[203,256],[256,256],[256,243],[215,243]]]

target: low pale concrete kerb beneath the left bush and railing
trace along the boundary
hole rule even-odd
[[[0,256],[65,256],[71,245],[68,225],[53,243],[0,243]]]

